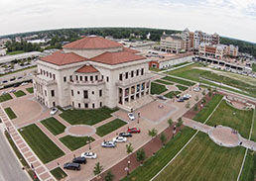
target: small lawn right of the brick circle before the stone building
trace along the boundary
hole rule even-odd
[[[110,134],[111,132],[123,127],[126,124],[127,123],[123,122],[122,120],[115,119],[112,122],[109,122],[105,125],[102,125],[102,126],[96,128],[96,134],[98,136],[106,136],[106,135]]]

